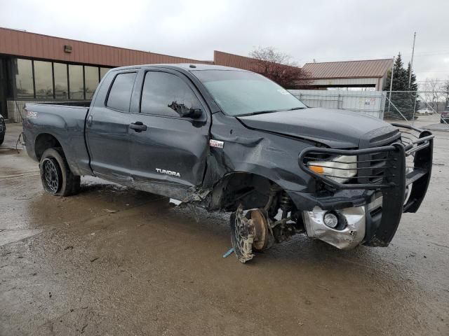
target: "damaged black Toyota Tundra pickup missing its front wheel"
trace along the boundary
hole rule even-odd
[[[302,233],[343,249],[387,246],[431,176],[430,132],[311,109],[224,66],[112,69],[89,106],[25,109],[25,146],[48,193],[78,193],[92,175],[232,211],[241,262]]]

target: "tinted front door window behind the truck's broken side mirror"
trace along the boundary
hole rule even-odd
[[[170,106],[184,104],[198,109],[201,104],[192,89],[181,78],[166,72],[149,71],[145,74],[140,112],[158,116],[180,115]]]

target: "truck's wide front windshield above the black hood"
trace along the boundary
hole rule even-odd
[[[230,116],[305,109],[293,94],[259,75],[239,70],[192,71]]]

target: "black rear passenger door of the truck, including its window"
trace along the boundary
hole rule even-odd
[[[130,101],[138,71],[112,71],[95,94],[86,120],[86,139],[95,175],[130,183]]]

